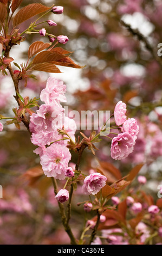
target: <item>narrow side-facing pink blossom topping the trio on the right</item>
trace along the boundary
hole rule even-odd
[[[122,125],[126,121],[126,103],[119,101],[114,109],[114,118],[116,125]]]

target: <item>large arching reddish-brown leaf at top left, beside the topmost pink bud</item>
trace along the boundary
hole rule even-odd
[[[13,20],[13,26],[16,27],[17,25],[30,19],[31,17],[40,13],[44,13],[44,11],[48,11],[49,9],[49,7],[41,3],[29,4],[20,9],[20,11],[18,11],[18,13],[15,15]]]

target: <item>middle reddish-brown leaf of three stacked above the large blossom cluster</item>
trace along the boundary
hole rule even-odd
[[[33,64],[43,63],[43,62],[54,62],[59,59],[63,59],[64,55],[62,53],[43,51],[37,54],[33,59]]]

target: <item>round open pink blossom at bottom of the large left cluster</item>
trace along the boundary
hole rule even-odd
[[[66,145],[58,143],[51,144],[46,149],[46,153],[41,156],[41,165],[44,174],[48,177],[63,180],[68,168],[68,163],[71,159],[71,154]]]

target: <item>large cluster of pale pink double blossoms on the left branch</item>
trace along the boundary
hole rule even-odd
[[[66,86],[54,77],[49,77],[40,99],[45,102],[30,117],[31,142],[38,148],[34,151],[40,155],[44,174],[56,179],[66,178],[68,163],[71,159],[66,147],[67,139],[59,135],[57,129],[64,129],[74,139],[76,124],[65,116],[60,102],[66,102]]]

